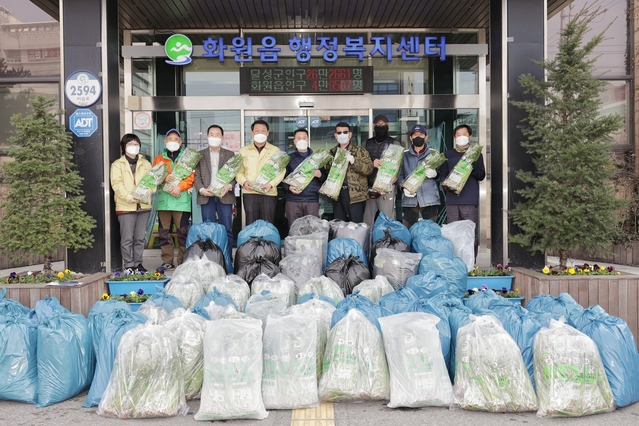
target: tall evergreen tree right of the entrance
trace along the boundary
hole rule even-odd
[[[510,216],[521,232],[510,241],[531,251],[558,250],[562,267],[569,250],[594,250],[612,242],[623,205],[612,184],[612,135],[621,128],[622,117],[599,115],[605,83],[593,76],[595,59],[590,57],[603,32],[583,42],[597,15],[582,10],[568,22],[556,58],[539,63],[547,81],[530,74],[519,78],[536,99],[513,103],[528,113],[523,130],[527,141],[521,145],[535,171],[516,172],[527,185],[516,191],[523,201]]]

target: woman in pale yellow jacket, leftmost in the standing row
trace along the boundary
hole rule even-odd
[[[149,163],[140,154],[140,138],[132,133],[122,136],[122,156],[111,164],[111,188],[115,198],[115,213],[120,222],[120,251],[122,267],[132,273],[146,272],[142,266],[146,224],[151,214],[151,204],[140,202],[131,196],[135,186],[151,170]]]

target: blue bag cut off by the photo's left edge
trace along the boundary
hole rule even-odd
[[[0,316],[0,400],[35,404],[38,324],[26,315]]]

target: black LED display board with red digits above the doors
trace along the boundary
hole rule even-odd
[[[373,93],[373,67],[240,68],[240,94]]]

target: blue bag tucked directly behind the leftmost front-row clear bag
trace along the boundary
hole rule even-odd
[[[102,395],[109,384],[109,378],[111,377],[115,356],[118,353],[118,346],[120,346],[122,336],[132,328],[144,324],[146,320],[147,318],[143,314],[132,312],[127,306],[122,307],[120,305],[115,305],[113,310],[99,318],[101,332],[98,341],[93,342],[96,347],[95,373],[91,388],[82,407],[89,408],[100,404]]]

